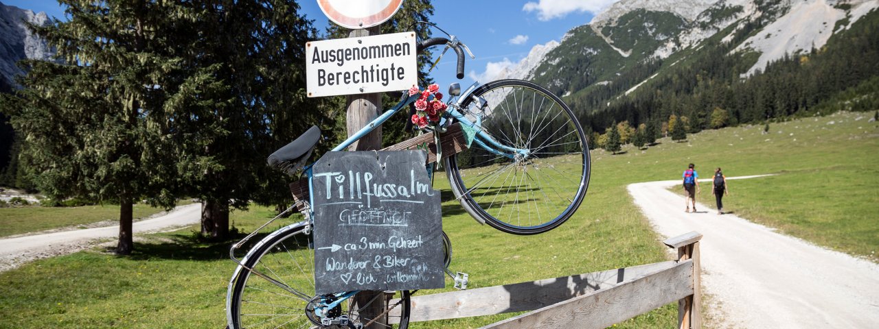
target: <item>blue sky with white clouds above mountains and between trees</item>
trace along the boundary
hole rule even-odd
[[[461,39],[476,60],[468,57],[461,86],[467,88],[473,77],[521,61],[535,45],[559,41],[571,28],[592,20],[596,12],[617,0],[441,0],[434,1],[432,21]],[[54,0],[0,0],[4,4],[32,11],[46,11],[62,18],[64,12]],[[328,24],[315,0],[301,1],[302,13],[315,21],[318,29]],[[439,34],[441,32],[434,32]],[[437,47],[437,49],[440,49]],[[454,56],[445,56],[432,73],[440,89],[447,89],[454,78]],[[485,81],[482,81],[485,82]]]

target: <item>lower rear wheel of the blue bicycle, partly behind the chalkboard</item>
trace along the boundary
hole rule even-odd
[[[336,297],[315,295],[313,247],[309,225],[304,222],[260,240],[234,279],[228,305],[230,328],[324,327],[328,326],[324,318],[345,318],[353,327],[372,323],[374,318],[361,317],[360,310],[382,303],[381,297],[358,305],[354,301],[363,298],[354,296],[338,307],[316,311]],[[388,309],[387,327],[405,329],[409,325],[409,291],[397,291]]]

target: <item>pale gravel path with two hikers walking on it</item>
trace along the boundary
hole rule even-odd
[[[702,287],[713,296],[708,311],[719,318],[717,325],[879,328],[879,265],[732,214],[717,215],[706,204],[697,202],[700,212],[686,213],[684,197],[666,190],[679,184],[642,182],[628,185],[628,192],[661,235],[703,234]],[[710,189],[711,182],[701,185]]]

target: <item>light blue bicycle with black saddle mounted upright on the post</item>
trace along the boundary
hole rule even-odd
[[[461,79],[464,52],[469,53],[469,49],[453,35],[446,34],[448,38],[420,42],[418,52],[442,45],[446,46],[443,54],[453,49],[457,54],[457,77]],[[461,125],[474,134],[474,147],[441,160],[454,197],[464,210],[481,224],[514,234],[547,232],[570,218],[585,197],[590,159],[583,130],[568,106],[534,83],[511,79],[483,85],[477,82],[463,93],[454,83],[448,95],[451,98],[447,102],[447,116],[438,130]],[[344,150],[416,99],[418,95],[406,97],[404,93],[396,106],[332,151]],[[310,189],[314,164],[304,164],[318,139],[320,131],[312,126],[272,154],[270,165],[290,175],[301,169]],[[439,161],[425,166],[429,175]],[[308,201],[299,200],[230,248],[230,258],[238,267],[227,292],[229,328],[331,325],[359,328],[376,320],[360,318],[360,310],[375,302],[353,302],[360,291],[316,296],[315,251],[311,240],[314,211],[310,207],[314,200],[306,199]],[[270,233],[251,247],[242,260],[236,259],[236,249],[272,221],[294,210],[301,211],[304,220]],[[466,277],[453,275],[448,269],[451,243],[445,232],[442,236],[446,272],[456,279],[456,286],[462,283],[466,288]],[[387,314],[381,314],[389,317],[389,326],[408,326],[412,293],[396,292]]]

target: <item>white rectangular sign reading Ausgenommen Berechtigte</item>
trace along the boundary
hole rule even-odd
[[[309,97],[410,89],[418,83],[415,33],[305,44]]]

